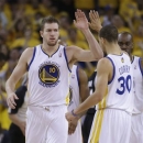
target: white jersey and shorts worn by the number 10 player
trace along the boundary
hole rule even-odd
[[[64,46],[48,56],[34,47],[29,65],[26,143],[66,143],[69,68]]]

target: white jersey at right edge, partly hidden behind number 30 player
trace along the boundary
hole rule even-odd
[[[132,62],[134,79],[134,113],[143,112],[143,72],[141,68],[141,57],[134,56]]]

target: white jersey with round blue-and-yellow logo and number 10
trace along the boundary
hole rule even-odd
[[[58,106],[69,94],[69,68],[64,46],[48,56],[41,45],[34,47],[29,65],[29,105]]]

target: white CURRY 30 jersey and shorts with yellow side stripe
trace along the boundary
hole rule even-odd
[[[89,143],[129,143],[133,106],[132,67],[127,54],[107,58],[113,67],[105,98],[97,105]],[[108,68],[108,67],[107,67]]]

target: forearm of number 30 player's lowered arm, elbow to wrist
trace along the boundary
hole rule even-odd
[[[74,109],[75,114],[80,114],[84,111],[88,110],[89,108],[94,107],[98,102],[100,102],[102,99],[100,96],[91,95],[87,100],[85,100],[78,108]]]

